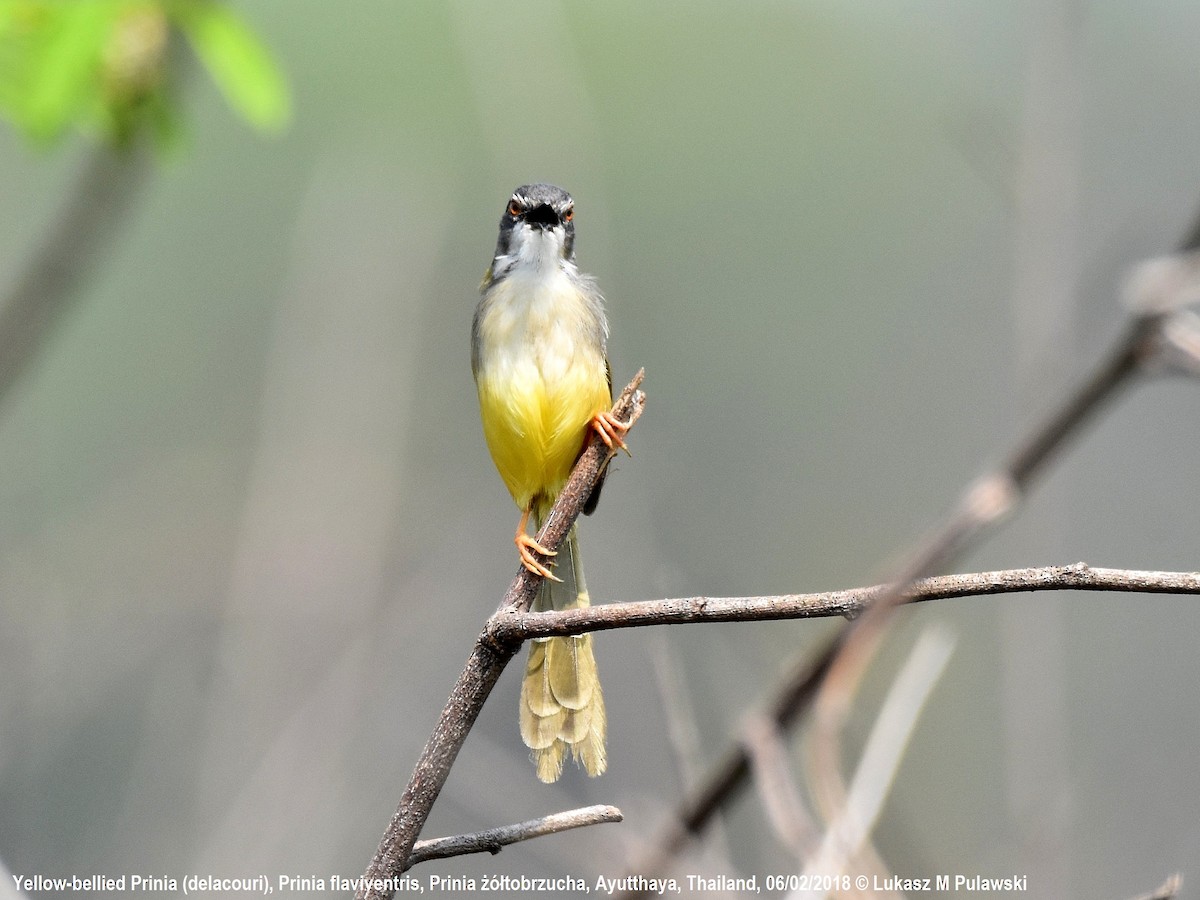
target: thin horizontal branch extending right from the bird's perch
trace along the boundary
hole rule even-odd
[[[499,613],[488,623],[492,640],[508,644],[534,637],[578,635],[646,625],[684,625],[700,622],[762,622],[840,616],[854,618],[888,592],[875,584],[821,594],[779,596],[692,596],[608,604],[558,612]],[[1094,569],[1086,563],[1004,569],[970,575],[941,575],[912,582],[902,592],[907,602],[948,600],[986,594],[1034,590],[1115,590],[1139,594],[1200,594],[1200,572],[1156,572]]]

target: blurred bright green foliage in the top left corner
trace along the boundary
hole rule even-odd
[[[214,0],[0,0],[0,114],[43,146],[79,130],[115,145],[149,132],[168,148],[178,36],[242,119],[262,131],[288,121],[278,66]]]

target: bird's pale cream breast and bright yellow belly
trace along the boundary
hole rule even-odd
[[[522,510],[539,515],[571,474],[593,415],[611,404],[608,368],[574,290],[520,282],[480,322],[475,373],[484,436]]]

